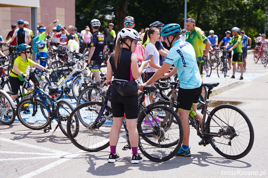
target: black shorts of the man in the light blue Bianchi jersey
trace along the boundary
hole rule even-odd
[[[193,104],[198,102],[194,99],[199,100],[199,95],[202,93],[202,87],[194,89],[183,89],[179,87],[177,107],[178,109],[191,110]]]

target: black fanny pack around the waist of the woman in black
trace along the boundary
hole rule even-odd
[[[117,83],[119,84],[116,85]],[[139,91],[138,83],[135,80],[132,81],[116,80],[113,82],[113,87],[116,88],[116,91],[118,91],[118,93],[121,96],[135,96],[138,94]]]

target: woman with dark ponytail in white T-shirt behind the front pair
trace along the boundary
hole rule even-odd
[[[155,47],[155,43],[160,38],[160,32],[155,27],[152,27],[149,30],[146,30],[144,34],[144,38],[143,38],[143,44],[146,42],[147,37],[150,38],[150,41],[146,45],[144,54],[145,54],[145,58],[147,58],[148,56],[152,56],[152,57],[149,63],[150,68],[146,69],[146,72],[145,72],[146,81],[148,81],[149,78],[151,78],[153,74],[161,67],[159,65],[159,52],[157,51]],[[151,83],[151,85],[153,85],[153,83]]]

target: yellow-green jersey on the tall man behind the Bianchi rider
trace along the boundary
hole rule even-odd
[[[204,42],[206,42],[208,39],[207,37],[204,35],[204,33],[202,32],[202,30],[198,27],[194,27],[192,33],[190,34],[189,31],[186,31],[185,33],[185,41],[189,42],[195,51],[195,56],[196,57],[201,57],[203,56],[203,45]]]

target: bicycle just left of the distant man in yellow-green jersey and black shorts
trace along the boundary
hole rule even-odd
[[[227,76],[227,71],[228,71],[227,60],[229,60],[229,54],[228,54],[228,49],[223,49],[220,51],[222,51],[222,57],[221,57],[221,60],[217,64],[217,74],[218,74],[218,77],[225,78]]]

